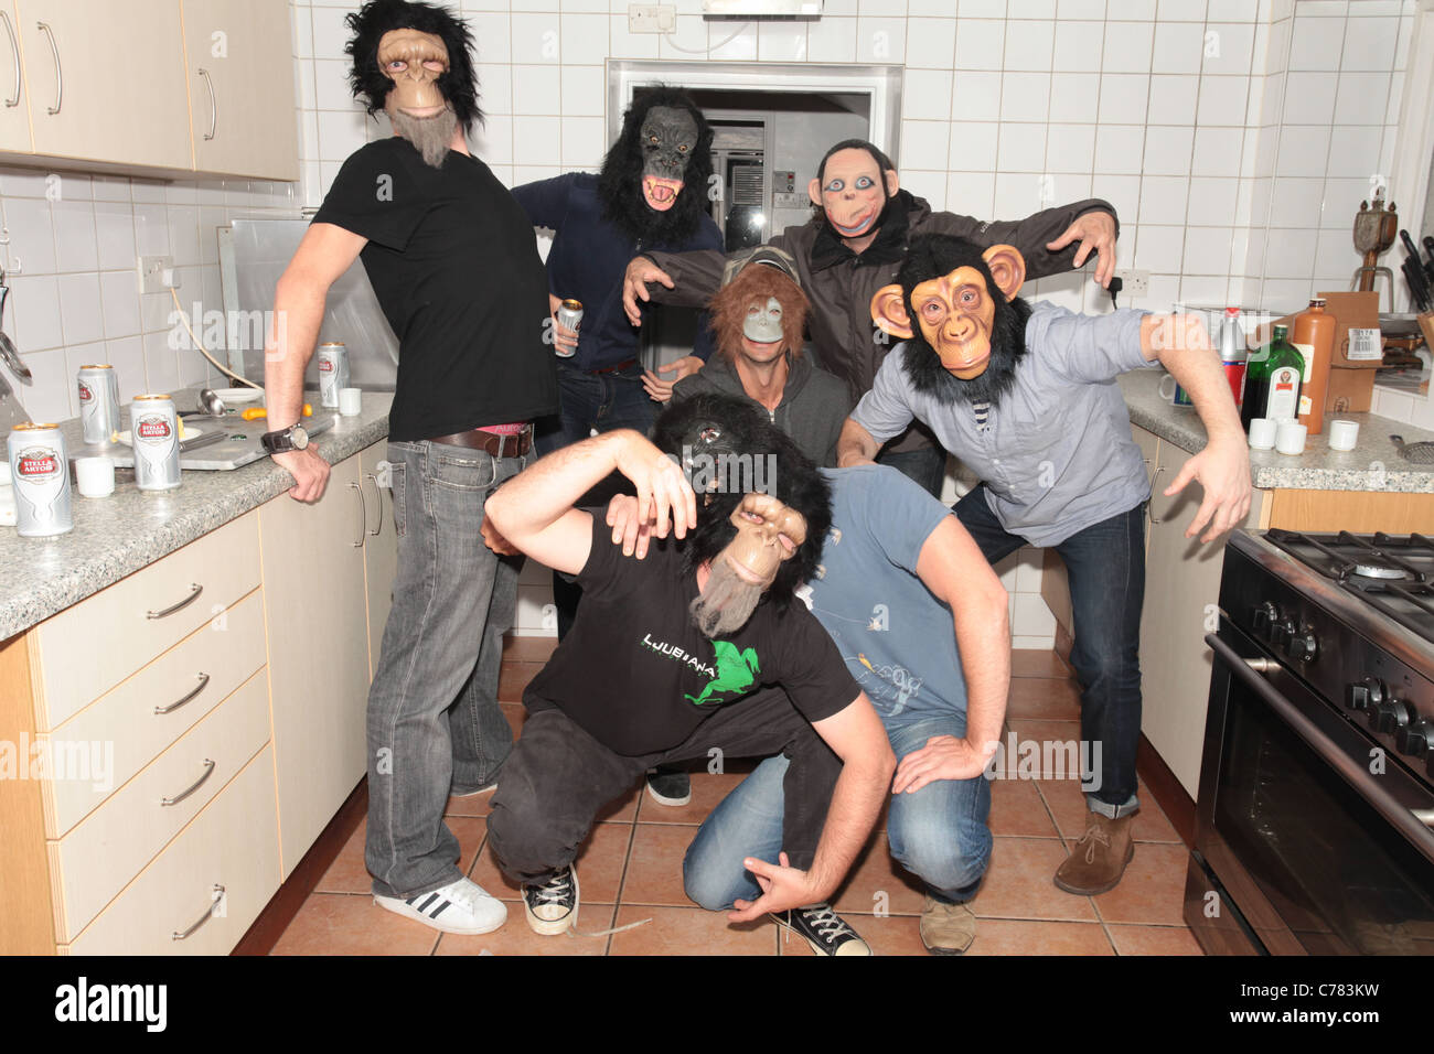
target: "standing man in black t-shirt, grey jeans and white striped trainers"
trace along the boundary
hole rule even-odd
[[[284,326],[265,357],[275,432],[264,439],[294,476],[290,493],[318,500],[328,465],[298,424],[304,369],[328,287],[363,260],[399,338],[389,413],[399,564],[369,694],[364,860],[380,906],[485,934],[506,908],[459,870],[443,812],[450,793],[490,789],[512,746],[498,673],[518,572],[478,528],[488,492],[526,463],[529,422],[556,409],[548,283],[522,208],[467,149],[482,115],[465,24],[394,0],[347,22],[354,95],[383,109],[394,135],[344,162],[278,283]]]

